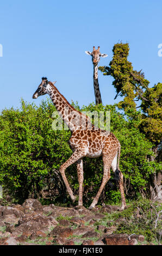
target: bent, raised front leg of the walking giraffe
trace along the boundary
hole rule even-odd
[[[71,166],[71,164],[73,164],[74,162],[78,161],[84,155],[85,155],[85,153],[82,152],[82,151],[74,151],[74,153],[71,155],[71,157],[65,163],[63,163],[60,166],[60,169],[59,169],[59,171],[61,173],[61,176],[62,176],[62,178],[64,180],[64,183],[65,183],[65,186],[66,186],[66,190],[67,190],[68,194],[70,195],[72,202],[75,202],[76,196],[73,195],[73,192],[72,192],[72,190],[70,188],[70,185],[68,184],[68,181],[67,181],[66,176],[65,176],[65,169],[68,166]]]

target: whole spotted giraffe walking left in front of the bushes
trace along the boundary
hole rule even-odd
[[[121,210],[126,207],[123,190],[123,174],[119,169],[120,160],[120,142],[112,132],[104,131],[95,127],[90,118],[83,113],[77,111],[65,97],[54,86],[55,82],[49,82],[47,77],[42,77],[42,81],[33,94],[33,99],[37,99],[41,95],[48,94],[57,109],[60,117],[67,124],[71,131],[71,137],[68,141],[72,150],[71,157],[60,166],[60,174],[66,186],[66,190],[71,197],[72,202],[76,200],[76,196],[68,184],[65,176],[65,170],[73,163],[77,163],[77,174],[79,182],[79,200],[78,205],[83,205],[83,157],[99,157],[103,159],[103,179],[101,186],[93,199],[89,209],[95,208],[105,184],[110,179],[110,168],[113,169],[115,177],[119,180],[119,188],[121,192],[122,205]],[[80,121],[82,120],[82,121]]]

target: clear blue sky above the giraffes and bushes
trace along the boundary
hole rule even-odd
[[[118,41],[128,42],[129,60],[153,84],[162,82],[161,0],[55,1],[7,0],[0,5],[0,109],[20,107],[21,97],[32,95],[42,76],[57,80],[68,101],[88,105],[95,101],[91,57],[85,51],[100,46],[100,65],[109,65]],[[113,104],[113,78],[99,71],[103,103]]]

